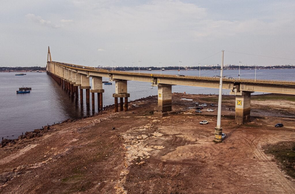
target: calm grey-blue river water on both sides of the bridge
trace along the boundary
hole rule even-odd
[[[160,73],[153,71],[153,73]],[[162,71],[164,74],[178,74],[178,71]],[[16,73],[0,72],[0,138],[15,138],[22,132],[41,128],[61,122],[66,119],[78,119],[91,115],[92,111],[86,108],[86,94],[84,104],[81,107],[80,101],[70,97],[49,75],[45,72],[27,72],[24,76],[15,76]],[[220,71],[201,70],[180,71],[182,75],[195,75],[213,77],[220,75]],[[238,77],[238,70],[224,70],[224,76]],[[241,78],[255,78],[255,70],[241,70]],[[256,79],[273,80],[295,80],[295,69],[257,69]],[[108,81],[108,78],[103,78]],[[90,78],[90,83],[92,82]],[[19,87],[32,87],[30,93],[17,94]],[[112,94],[115,92],[115,84],[103,85],[103,105],[114,104]],[[157,95],[157,87],[150,86],[150,83],[128,81],[128,100],[136,100],[150,95]],[[172,92],[186,92],[187,94],[218,94],[218,89],[172,86]],[[256,92],[255,92],[256,93]],[[254,93],[254,94],[255,94]],[[229,94],[223,90],[223,94]],[[259,94],[259,93],[256,93]],[[97,99],[96,99],[97,100]],[[90,98],[91,101],[91,98]],[[97,102],[96,112],[97,112]],[[91,102],[90,102],[91,106]]]

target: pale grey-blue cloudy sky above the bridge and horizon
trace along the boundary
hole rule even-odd
[[[2,67],[295,65],[294,0],[0,3]]]

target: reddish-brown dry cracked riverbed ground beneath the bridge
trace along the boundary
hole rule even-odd
[[[225,96],[227,137],[214,143],[217,111],[192,107],[217,98],[173,94],[173,109],[183,112],[156,117],[157,97],[148,97],[128,112],[109,109],[1,148],[0,193],[295,193],[294,180],[262,149],[295,140],[294,106],[284,116],[279,103],[253,100],[252,122],[236,125],[235,99]],[[199,125],[204,119],[209,124]],[[273,127],[277,122],[285,127]]]

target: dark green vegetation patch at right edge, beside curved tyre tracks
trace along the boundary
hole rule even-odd
[[[280,162],[280,167],[295,178],[295,142],[280,142],[263,147],[266,154],[271,154]]]

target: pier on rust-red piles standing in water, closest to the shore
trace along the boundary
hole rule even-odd
[[[102,110],[102,77],[92,77],[92,89],[90,90],[92,94],[92,110],[95,110],[95,93],[97,93],[97,107],[98,111]]]

